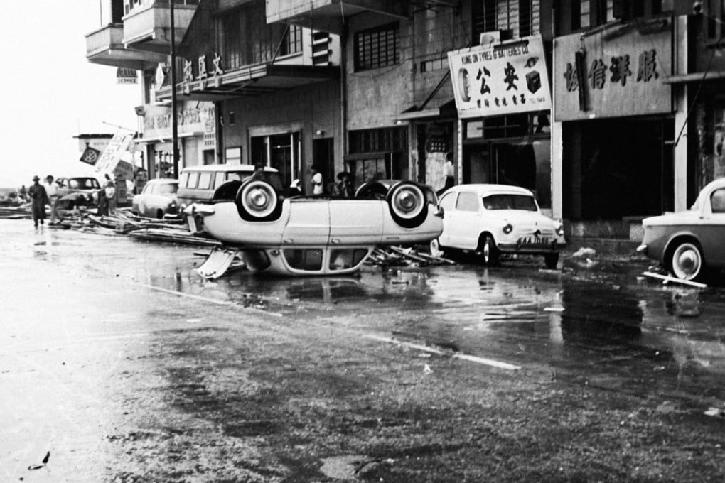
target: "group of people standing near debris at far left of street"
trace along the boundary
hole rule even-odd
[[[33,214],[33,224],[36,228],[38,225],[45,224],[46,218],[46,205],[50,206],[50,222],[49,224],[59,224],[62,222],[62,214],[60,212],[62,202],[67,207],[77,208],[80,204],[86,204],[85,198],[80,194],[67,195],[61,198],[59,195],[58,185],[52,175],[46,176],[46,182],[41,184],[40,178],[36,175],[33,176],[33,184],[27,190],[27,194],[23,193],[25,185],[22,186],[20,196],[27,196],[30,201],[30,211]],[[66,198],[72,199],[66,199]],[[106,182],[101,187],[98,193],[98,209],[96,214],[107,215],[112,214],[116,209],[116,188],[115,183],[106,175]]]

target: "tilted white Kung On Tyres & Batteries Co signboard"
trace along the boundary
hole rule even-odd
[[[452,51],[448,62],[461,119],[551,109],[539,35]]]

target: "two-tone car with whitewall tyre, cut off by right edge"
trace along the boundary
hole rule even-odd
[[[659,261],[681,280],[702,280],[725,268],[725,178],[703,188],[687,211],[642,220],[637,251]]]

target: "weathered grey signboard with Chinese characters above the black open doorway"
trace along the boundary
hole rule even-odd
[[[571,121],[672,111],[671,28],[555,39],[555,119]]]

